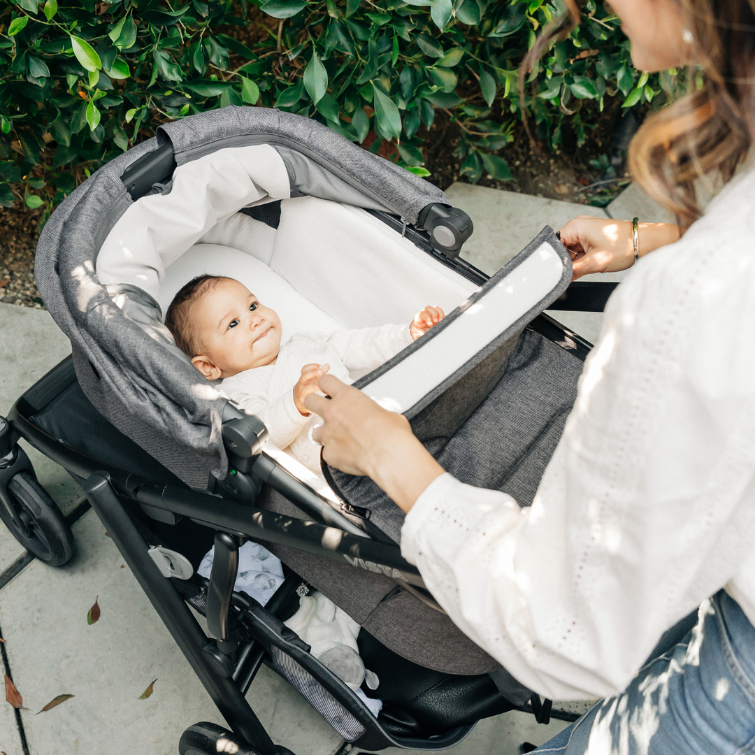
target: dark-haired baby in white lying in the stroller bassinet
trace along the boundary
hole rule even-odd
[[[174,297],[165,325],[177,346],[208,379],[223,378],[230,399],[256,414],[270,441],[320,473],[320,446],[304,399],[330,372],[371,370],[395,356],[444,317],[425,307],[409,325],[324,333],[297,333],[281,346],[279,316],[233,278],[199,276]],[[302,366],[304,365],[304,366]]]

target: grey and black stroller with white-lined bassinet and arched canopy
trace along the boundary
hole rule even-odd
[[[435,187],[325,126],[236,106],[162,125],[45,226],[37,281],[72,355],[0,418],[0,518],[48,564],[72,556],[21,437],[82,485],[230,727],[190,726],[182,755],[288,752],[245,698],[261,664],[365,749],[446,749],[513,708],[547,723],[550,702],[464,636],[402,559],[398,507],[368,479],[322,462],[323,482],[266,442],[162,324],[202,273],[246,282],[282,313],[283,342],[439,304],[439,325],[354,384],[404,413],[464,482],[527,504],[590,350],[543,310],[600,311],[613,285],[569,285],[569,255],[548,228],[488,279],[459,256],[472,230]],[[264,607],[234,590],[250,539],[285,565]],[[312,589],[361,625],[377,716],[283,624]]]

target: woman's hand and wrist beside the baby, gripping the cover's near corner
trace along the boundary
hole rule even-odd
[[[312,436],[322,443],[325,461],[370,476],[404,511],[411,509],[444,470],[414,437],[407,419],[333,375],[322,377],[319,387],[330,398],[313,393],[304,405],[323,420]]]

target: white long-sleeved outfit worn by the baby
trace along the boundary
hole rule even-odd
[[[328,374],[351,383],[350,372],[371,370],[411,344],[408,325],[296,333],[279,351],[275,364],[255,367],[226,377],[223,391],[267,427],[270,442],[320,473],[320,445],[309,437],[314,415],[302,416],[294,405],[293,388],[308,364],[330,365]]]

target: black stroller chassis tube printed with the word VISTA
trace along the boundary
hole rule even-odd
[[[427,589],[417,567],[402,558],[397,545],[171,485],[140,485],[131,495],[140,504],[188,516],[214,529],[287,545],[340,563],[347,561],[358,569],[383,574],[398,584]]]

